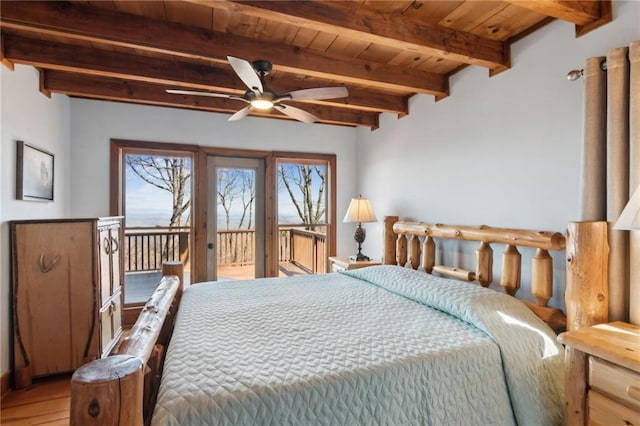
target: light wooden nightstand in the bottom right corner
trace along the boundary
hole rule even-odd
[[[623,322],[568,331],[568,425],[640,425],[640,327]]]

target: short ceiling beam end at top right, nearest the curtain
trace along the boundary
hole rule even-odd
[[[581,36],[611,22],[611,0],[508,0],[525,9],[576,24]]]

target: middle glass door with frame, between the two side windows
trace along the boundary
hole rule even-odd
[[[207,156],[206,279],[265,276],[264,159]]]

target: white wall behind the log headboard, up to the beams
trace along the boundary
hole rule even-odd
[[[583,84],[566,75],[640,38],[640,2],[614,2],[614,18],[577,39],[573,25],[553,22],[512,46],[509,71],[468,67],[449,98],[414,96],[407,117],[359,130],[360,192],[380,217],[564,232],[578,219]],[[381,253],[381,223],[368,228],[367,251]],[[473,268],[475,245],[449,246]],[[552,302],[563,306],[564,260],[554,261],[562,288]]]

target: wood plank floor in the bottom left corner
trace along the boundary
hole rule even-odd
[[[0,401],[2,425],[69,424],[71,376],[41,379],[26,389],[9,392]]]

